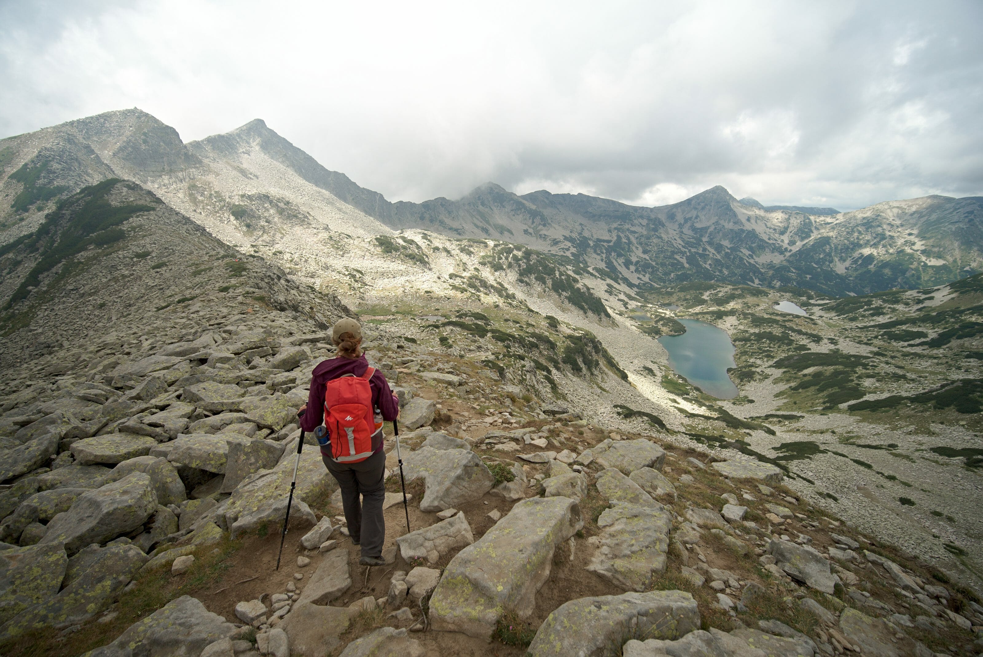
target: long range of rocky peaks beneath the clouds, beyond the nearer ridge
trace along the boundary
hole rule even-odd
[[[513,194],[487,183],[458,200],[390,203],[330,171],[257,119],[184,144],[139,109],[0,141],[0,243],[59,198],[109,177],[135,180],[226,242],[293,230],[370,236],[421,228],[568,256],[637,287],[687,280],[828,294],[942,284],[983,270],[983,198],[929,196],[838,212],[765,207],[714,187],[658,208],[584,194]]]

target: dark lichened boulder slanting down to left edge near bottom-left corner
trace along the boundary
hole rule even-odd
[[[147,561],[135,545],[116,544],[87,550],[93,554],[87,555],[83,567],[71,568],[65,577],[66,586],[58,595],[18,614],[0,627],[0,635],[18,636],[31,629],[86,622],[105,609]]]

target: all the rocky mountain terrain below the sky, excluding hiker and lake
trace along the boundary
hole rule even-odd
[[[389,204],[140,110],[0,167],[0,654],[983,652],[978,200]],[[342,317],[401,407],[379,567],[297,424]]]

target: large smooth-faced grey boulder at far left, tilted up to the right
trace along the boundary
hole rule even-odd
[[[134,472],[80,496],[72,508],[51,519],[41,544],[64,543],[75,554],[89,543],[105,543],[137,529],[155,510],[150,478]]]

